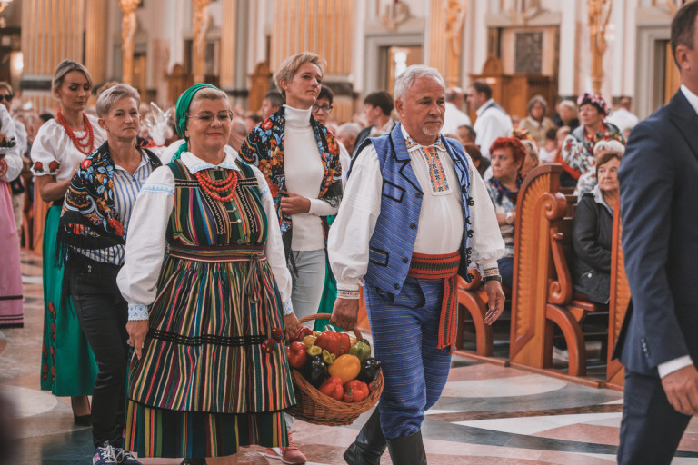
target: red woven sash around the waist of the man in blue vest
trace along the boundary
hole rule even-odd
[[[413,253],[407,277],[424,280],[444,280],[444,302],[441,305],[439,320],[438,348],[455,351],[455,333],[458,326],[458,265],[461,252],[445,255],[425,255]]]

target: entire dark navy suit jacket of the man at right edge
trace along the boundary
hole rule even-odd
[[[698,361],[698,114],[681,90],[635,126],[618,178],[632,302],[615,355],[656,375]]]

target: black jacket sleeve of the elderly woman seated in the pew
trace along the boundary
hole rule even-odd
[[[577,204],[572,227],[574,253],[598,272],[611,272],[611,251],[598,242],[599,213],[596,203],[584,195]]]

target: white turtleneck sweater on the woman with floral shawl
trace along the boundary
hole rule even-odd
[[[310,109],[284,105],[284,173],[289,193],[310,200],[310,212],[291,215],[294,222],[291,250],[324,249],[321,216],[337,213],[337,208],[317,198],[323,183],[323,160],[310,125]]]

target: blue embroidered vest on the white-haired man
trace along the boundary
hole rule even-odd
[[[470,206],[473,205],[473,199],[470,197],[469,162],[460,143],[444,136],[441,139],[446,152],[454,162],[454,172],[458,177],[463,196],[464,232],[466,233],[461,242],[462,258],[458,273],[468,280],[466,271],[470,264],[469,239],[473,236],[473,231],[470,229]],[[404,280],[410,269],[424,193],[410,164],[402,124],[395,125],[390,134],[366,139],[357,153],[360,153],[369,143],[374,144],[381,164],[383,192],[381,213],[378,215],[374,234],[369,242],[368,270],[364,280],[384,292],[397,295],[402,291]]]

